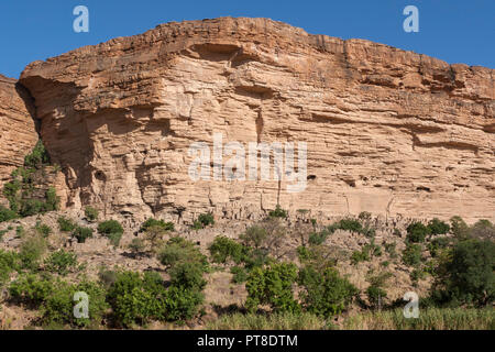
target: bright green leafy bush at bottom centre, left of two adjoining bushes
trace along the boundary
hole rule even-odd
[[[255,267],[250,273],[245,288],[246,308],[255,311],[258,305],[270,305],[275,311],[296,312],[300,306],[294,299],[293,284],[297,278],[295,264],[273,264],[268,267]]]

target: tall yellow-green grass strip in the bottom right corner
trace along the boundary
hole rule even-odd
[[[374,311],[344,321],[345,330],[494,330],[495,310],[428,308],[418,319],[404,318],[403,310]]]

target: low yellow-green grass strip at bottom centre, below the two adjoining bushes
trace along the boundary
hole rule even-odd
[[[324,330],[324,319],[311,314],[233,314],[208,323],[208,330]]]

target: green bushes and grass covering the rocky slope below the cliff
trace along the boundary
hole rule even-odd
[[[41,161],[34,157],[30,163]],[[7,221],[12,218],[12,210],[0,210]],[[124,229],[119,221],[92,223],[98,211],[85,210],[82,221],[59,217],[59,233],[84,243],[95,237],[96,229],[113,246],[123,248]],[[209,243],[208,255],[198,243],[178,235],[173,223],[147,219],[127,249],[135,260],[155,257],[161,268],[101,268],[98,279],[88,279],[85,265],[70,250],[54,251],[50,245],[54,230],[37,221],[33,229],[16,229],[19,250],[0,250],[0,288],[7,289],[11,304],[37,310],[34,324],[44,328],[139,328],[153,321],[198,321],[205,314],[208,275],[216,271],[231,273],[231,285],[245,287],[246,299],[209,323],[211,329],[334,329],[333,319],[353,306],[365,312],[346,318],[344,328],[493,328],[495,227],[490,221],[471,227],[459,217],[450,223],[438,219],[411,222],[405,246],[398,250],[396,242],[375,239],[370,213],[326,227],[311,220],[310,230],[290,233],[286,218],[287,212],[277,208],[238,239],[218,235]],[[196,222],[200,228],[215,226],[209,213]],[[328,239],[339,230],[361,237],[361,249],[343,256],[330,250]],[[398,230],[393,233],[402,235]],[[285,250],[289,241],[299,243],[295,258]],[[342,274],[341,261],[356,268],[378,261],[381,268],[363,272],[367,285],[360,290]],[[419,319],[405,319],[397,309],[404,302],[388,298],[391,263],[406,268],[415,285],[431,277],[431,289],[420,297]],[[74,315],[76,293],[90,297],[87,317]]]

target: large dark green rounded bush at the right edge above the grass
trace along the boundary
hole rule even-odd
[[[451,305],[492,305],[495,299],[495,243],[468,240],[454,245],[438,268],[433,296]]]

